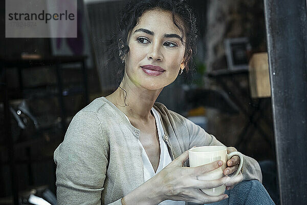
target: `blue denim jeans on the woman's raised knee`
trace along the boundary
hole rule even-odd
[[[267,190],[257,180],[242,181],[226,191],[228,199],[210,203],[211,205],[272,205],[275,204]],[[188,203],[189,205],[197,203]]]

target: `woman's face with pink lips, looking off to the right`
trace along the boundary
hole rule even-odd
[[[158,90],[171,84],[184,68],[182,34],[167,11],[149,10],[128,36],[125,74],[137,87]],[[183,39],[185,40],[185,39]]]

